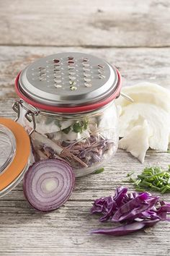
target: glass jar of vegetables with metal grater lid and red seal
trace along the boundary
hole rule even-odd
[[[118,145],[115,98],[120,73],[89,54],[54,54],[17,77],[18,121],[30,135],[35,161],[61,158],[76,176],[104,166]]]

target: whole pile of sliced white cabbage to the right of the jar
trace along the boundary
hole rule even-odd
[[[140,151],[140,145],[136,147],[133,137],[138,137],[138,133],[140,136],[145,134],[141,131],[146,132],[147,122],[150,134],[148,146],[155,150],[167,150],[170,142],[170,91],[150,82],[141,82],[122,88],[122,92],[133,98],[134,102],[122,97],[116,101],[120,114],[120,137],[124,137],[120,140],[120,148],[143,160],[145,150],[142,147]],[[143,145],[139,137],[138,141]]]

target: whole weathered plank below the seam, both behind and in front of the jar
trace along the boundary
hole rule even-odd
[[[61,48],[0,46],[0,116],[14,118],[14,77],[31,61],[59,51],[84,51],[100,56],[120,69],[124,85],[140,81],[157,82],[170,88],[169,48]],[[91,202],[126,185],[126,174],[139,174],[145,166],[167,168],[170,154],[149,150],[144,164],[118,150],[102,174],[76,180],[73,194],[53,213],[38,213],[24,200],[22,184],[0,199],[0,255],[170,255],[170,223],[158,223],[149,233],[140,231],[125,237],[91,235],[91,229],[107,226],[91,216]],[[133,190],[132,186],[128,186]],[[170,201],[166,195],[165,200]]]

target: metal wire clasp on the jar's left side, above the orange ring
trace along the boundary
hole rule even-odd
[[[35,131],[36,129],[36,121],[35,121],[35,116],[37,116],[39,114],[39,111],[37,110],[37,108],[35,108],[35,106],[30,105],[30,107],[32,108],[32,110],[30,110],[30,108],[27,108],[26,106],[23,105],[24,101],[20,100],[20,101],[16,101],[12,108],[13,110],[17,113],[17,118],[14,121],[18,121],[19,116],[20,116],[20,106],[22,108],[24,108],[24,110],[26,110],[26,114],[24,114],[25,118],[27,119],[27,121],[33,122],[33,128],[31,130],[31,132],[29,133],[29,136],[32,135],[32,132]]]

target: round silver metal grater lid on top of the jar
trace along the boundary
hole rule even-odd
[[[18,89],[32,102],[75,107],[103,101],[117,88],[117,70],[96,56],[76,52],[47,56],[19,75]]]

